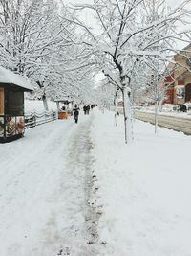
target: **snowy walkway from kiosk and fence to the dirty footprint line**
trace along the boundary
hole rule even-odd
[[[97,255],[92,118],[54,121],[0,145],[0,255]]]

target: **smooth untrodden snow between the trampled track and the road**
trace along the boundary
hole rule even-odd
[[[191,137],[136,121],[135,140],[124,144],[122,116],[97,112],[94,137],[99,236],[106,255],[190,256]]]

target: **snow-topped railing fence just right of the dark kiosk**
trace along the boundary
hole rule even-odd
[[[56,111],[43,113],[30,113],[25,115],[25,128],[33,128],[57,119]]]

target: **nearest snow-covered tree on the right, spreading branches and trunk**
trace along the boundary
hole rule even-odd
[[[176,42],[190,43],[189,4],[185,0],[170,9],[166,0],[94,0],[74,6],[75,12],[95,13],[98,35],[78,18],[70,21],[83,30],[96,64],[122,94],[126,143],[132,140],[132,98],[148,83],[157,88],[158,78],[165,77],[168,63],[179,52]]]

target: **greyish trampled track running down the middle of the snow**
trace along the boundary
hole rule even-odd
[[[101,209],[96,206],[98,189],[92,166],[91,124],[93,115],[77,128],[69,144],[67,170],[74,182],[65,185],[71,191],[68,210],[73,217],[64,231],[64,243],[57,255],[96,256],[100,254],[97,223]],[[66,181],[66,180],[65,180]]]

